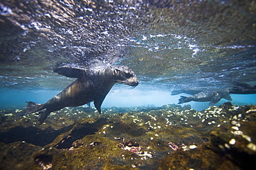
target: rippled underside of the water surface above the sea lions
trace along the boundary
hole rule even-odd
[[[141,85],[255,81],[254,1],[5,1],[1,86],[61,89],[57,63],[124,64]],[[47,83],[45,83],[47,81]],[[71,82],[71,81],[68,81]]]

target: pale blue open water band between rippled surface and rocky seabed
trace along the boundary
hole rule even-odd
[[[24,109],[25,101],[34,101],[36,103],[46,103],[53,96],[58,94],[60,90],[48,89],[8,89],[1,88],[0,91],[0,109]],[[190,96],[189,94],[179,94],[171,96],[170,92],[160,90],[143,91],[141,89],[129,89],[124,87],[114,86],[111,92],[107,95],[102,108],[109,107],[138,107],[138,106],[156,106],[160,107],[166,104],[177,104],[180,96]],[[230,94],[234,105],[256,105],[256,94]],[[226,99],[221,99],[215,106],[222,105],[228,102]],[[190,102],[183,103],[191,105],[192,109],[201,111],[209,107],[209,102]],[[91,107],[94,107],[91,105]]]

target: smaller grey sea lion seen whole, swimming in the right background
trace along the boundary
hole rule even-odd
[[[190,101],[197,101],[197,102],[210,101],[209,105],[214,105],[215,103],[219,102],[219,100],[221,100],[221,98],[225,98],[227,100],[232,100],[232,98],[230,97],[229,94],[230,93],[229,93],[228,89],[205,90],[203,92],[194,94],[189,97],[181,96],[178,104],[187,103]]]

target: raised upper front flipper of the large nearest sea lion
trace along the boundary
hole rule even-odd
[[[62,74],[63,76],[72,77],[72,78],[80,78],[82,76],[86,76],[88,69],[75,67],[71,65],[62,65],[56,67],[53,72],[57,72],[57,74]]]

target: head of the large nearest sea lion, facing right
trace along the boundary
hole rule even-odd
[[[122,83],[125,85],[136,86],[138,80],[131,68],[125,65],[112,65],[113,79],[116,83]]]

